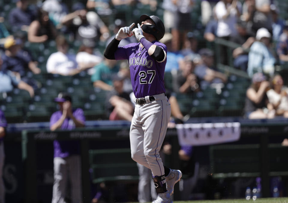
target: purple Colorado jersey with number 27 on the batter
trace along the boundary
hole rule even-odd
[[[152,43],[160,46],[167,55],[165,44],[158,41]],[[156,61],[149,56],[144,47],[140,47],[140,42],[118,47],[114,56],[116,60],[128,60],[133,92],[136,98],[165,92],[164,70],[167,58],[163,62]]]

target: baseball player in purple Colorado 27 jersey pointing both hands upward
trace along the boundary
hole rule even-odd
[[[120,28],[107,46],[104,56],[108,59],[127,59],[135,95],[135,112],[130,128],[131,156],[137,163],[151,169],[158,193],[154,203],[170,203],[174,185],[182,173],[163,166],[159,155],[171,107],[165,95],[164,70],[167,47],[160,43],[165,33],[164,24],[157,16],[142,15],[141,25]],[[139,43],[118,47],[120,40],[132,36]]]

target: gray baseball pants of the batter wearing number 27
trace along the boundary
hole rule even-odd
[[[159,154],[164,141],[171,106],[164,93],[153,95],[155,101],[136,104],[130,128],[131,157],[151,169],[153,176],[164,175]]]

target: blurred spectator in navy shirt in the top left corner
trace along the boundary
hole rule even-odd
[[[29,8],[29,0],[16,0],[16,8],[9,13],[9,24],[15,32],[28,31],[29,25],[36,18],[35,10]]]

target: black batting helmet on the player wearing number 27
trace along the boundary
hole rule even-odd
[[[157,16],[140,16],[140,21],[143,22],[147,19],[151,19],[155,25],[142,25],[142,30],[148,34],[152,34],[156,40],[161,40],[165,34],[165,27],[162,20]]]

